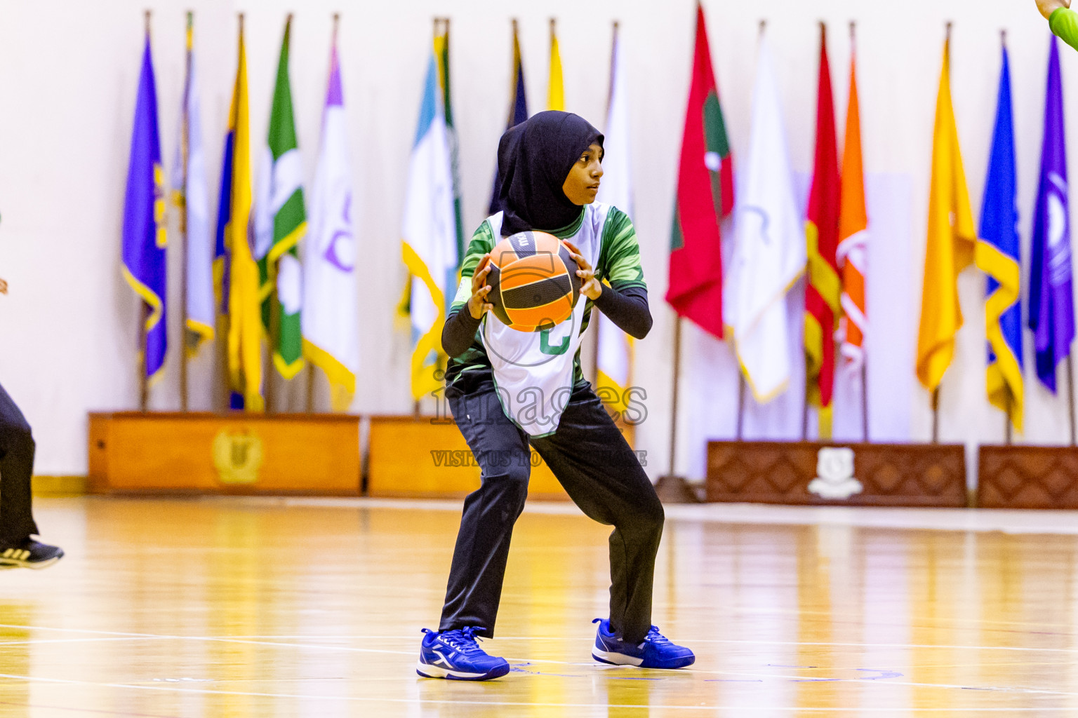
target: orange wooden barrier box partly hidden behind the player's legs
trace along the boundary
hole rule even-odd
[[[479,488],[479,464],[452,419],[371,417],[368,447],[371,496],[457,498]],[[569,498],[535,451],[528,497]]]

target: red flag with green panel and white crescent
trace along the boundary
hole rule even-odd
[[[666,301],[680,316],[722,336],[722,243],[719,221],[734,206],[733,158],[711,71],[704,9],[696,4],[696,44],[681,138]]]

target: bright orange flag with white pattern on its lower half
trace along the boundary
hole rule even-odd
[[[839,211],[839,250],[842,272],[842,318],[839,339],[842,356],[851,368],[865,362],[865,330],[868,311],[865,305],[865,270],[868,253],[869,220],[865,211],[865,170],[861,167],[861,117],[857,101],[857,62],[849,58],[849,103],[846,107],[846,140],[842,153],[842,198]],[[865,391],[865,388],[861,388]]]

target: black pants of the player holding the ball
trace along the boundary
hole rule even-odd
[[[488,379],[466,394],[451,388],[446,398],[482,485],[465,499],[439,630],[476,625],[493,636],[513,523],[527,498],[528,436],[506,417]],[[573,392],[557,431],[531,446],[585,515],[613,526],[610,627],[625,640],[642,640],[651,628],[663,506],[636,454],[591,386]]]

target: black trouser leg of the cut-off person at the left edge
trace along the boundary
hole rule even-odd
[[[30,425],[0,386],[0,545],[38,533],[30,512],[33,437]]]

